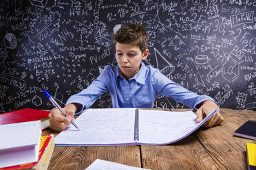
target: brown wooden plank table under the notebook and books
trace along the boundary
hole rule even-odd
[[[221,114],[225,119],[222,125],[200,127],[171,145],[56,146],[48,169],[85,169],[97,158],[146,169],[247,169],[246,143],[256,141],[233,136],[233,132],[247,119],[256,121],[256,112],[221,109]],[[43,131],[51,133],[57,134]]]

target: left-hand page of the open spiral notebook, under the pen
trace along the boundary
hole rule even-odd
[[[55,145],[111,145],[134,142],[135,108],[85,110],[75,123],[56,136]]]

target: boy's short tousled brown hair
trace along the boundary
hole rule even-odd
[[[147,49],[149,36],[146,33],[145,27],[142,25],[136,23],[122,25],[116,34],[113,33],[112,35],[115,46],[116,42],[126,45],[138,45],[142,53]]]

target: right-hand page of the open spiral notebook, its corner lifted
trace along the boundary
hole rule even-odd
[[[195,120],[196,115],[191,111],[139,110],[139,143],[156,145],[179,141],[204,123],[195,123]]]

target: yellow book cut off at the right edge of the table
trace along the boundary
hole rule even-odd
[[[247,143],[247,165],[249,170],[256,170],[256,144]]]

